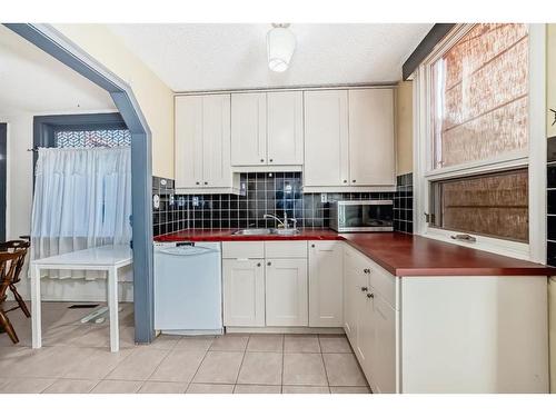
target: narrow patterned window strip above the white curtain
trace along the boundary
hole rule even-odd
[[[131,145],[127,129],[62,130],[54,133],[57,148],[115,148]]]

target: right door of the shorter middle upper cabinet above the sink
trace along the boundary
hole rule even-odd
[[[267,93],[268,165],[304,163],[304,93]]]

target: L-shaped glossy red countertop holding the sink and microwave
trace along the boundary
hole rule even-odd
[[[301,229],[296,236],[232,235],[237,229],[187,229],[156,241],[344,240],[398,277],[553,276],[556,268],[399,232],[337,234]]]

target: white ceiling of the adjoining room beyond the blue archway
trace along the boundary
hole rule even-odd
[[[112,109],[105,90],[0,24],[0,115]]]

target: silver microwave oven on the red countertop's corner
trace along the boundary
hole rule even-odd
[[[391,200],[349,200],[330,203],[330,228],[340,231],[393,231]]]

